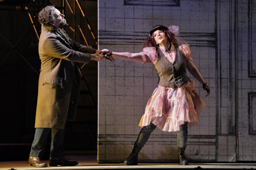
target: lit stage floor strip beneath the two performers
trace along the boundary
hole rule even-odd
[[[69,160],[77,160],[79,165],[73,167],[43,167],[29,166],[27,161],[0,162],[0,169],[256,169],[256,163],[190,163],[181,166],[171,163],[139,163],[138,166],[123,166],[123,164],[98,164],[96,155],[67,155]],[[48,160],[44,160],[48,163]]]

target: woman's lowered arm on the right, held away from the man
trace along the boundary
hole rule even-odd
[[[194,78],[203,85],[204,90],[207,91],[207,94],[206,94],[206,97],[207,97],[210,94],[210,89],[207,86],[206,82],[204,81],[201,73],[198,71],[197,67],[194,65],[192,61],[187,63],[187,69],[194,76]]]

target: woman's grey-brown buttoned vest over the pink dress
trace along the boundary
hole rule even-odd
[[[155,69],[158,74],[158,84],[168,88],[181,87],[189,80],[186,74],[187,63],[185,57],[180,52],[179,46],[175,47],[175,59],[170,63],[160,49],[157,49],[158,59],[155,63]]]

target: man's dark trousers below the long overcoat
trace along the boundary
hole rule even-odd
[[[44,149],[47,142],[47,137],[51,131],[52,141],[51,141],[51,152],[50,158],[54,157],[65,157],[63,141],[65,137],[64,129],[54,129],[54,128],[36,128],[34,141],[31,146],[29,156],[42,158],[44,155]]]

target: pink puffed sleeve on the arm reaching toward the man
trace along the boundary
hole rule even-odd
[[[142,55],[142,58],[143,58],[143,64],[144,63],[150,63],[150,62],[155,64],[156,61],[157,61],[157,58],[158,58],[155,47],[143,48],[143,51],[141,52],[141,55]]]

